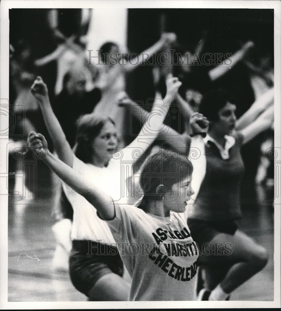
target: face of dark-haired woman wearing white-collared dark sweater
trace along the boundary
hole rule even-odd
[[[213,122],[212,127],[224,135],[229,135],[235,128],[235,111],[236,105],[227,102],[227,104],[218,111],[219,120]]]

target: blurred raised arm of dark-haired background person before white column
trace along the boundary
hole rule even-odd
[[[127,72],[133,71],[139,65],[144,63],[145,60],[148,60],[153,53],[159,52],[166,44],[174,41],[176,41],[176,35],[174,33],[163,33],[159,41],[141,53],[141,55],[145,55],[145,58],[142,56],[133,58],[130,63],[127,62],[125,70]]]

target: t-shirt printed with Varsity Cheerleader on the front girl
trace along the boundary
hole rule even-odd
[[[115,215],[106,222],[132,278],[129,300],[194,300],[199,253],[184,213],[158,217],[115,205]]]

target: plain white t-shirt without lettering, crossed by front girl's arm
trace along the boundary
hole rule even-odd
[[[89,163],[85,164],[73,155],[73,169],[120,204],[126,204],[128,200],[125,181],[132,174],[132,166],[132,161],[126,163],[112,158],[107,167],[97,167]],[[96,209],[65,183],[63,183],[63,190],[73,207],[71,239],[114,243],[108,225],[97,217]]]

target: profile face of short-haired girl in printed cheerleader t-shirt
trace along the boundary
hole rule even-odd
[[[164,196],[164,208],[166,211],[174,211],[177,213],[183,213],[185,211],[186,202],[190,200],[190,197],[194,194],[191,188],[191,175],[174,183],[171,187],[173,194]]]

